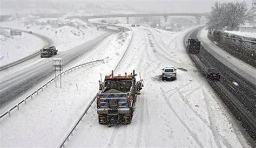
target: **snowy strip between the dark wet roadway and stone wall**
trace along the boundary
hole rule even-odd
[[[208,31],[204,28],[198,33],[198,39],[202,42],[206,50],[212,53],[214,57],[219,59],[235,72],[239,73],[241,76],[244,76],[247,80],[256,83],[256,69],[253,66],[246,64],[244,61],[233,57],[233,55],[227,53],[219,46],[215,45],[210,39],[208,39],[207,32]]]

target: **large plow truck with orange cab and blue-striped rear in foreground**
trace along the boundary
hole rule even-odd
[[[106,75],[104,82],[99,81],[97,95],[97,114],[99,124],[108,126],[130,124],[134,103],[143,87],[143,80],[136,81],[135,71],[121,76]]]

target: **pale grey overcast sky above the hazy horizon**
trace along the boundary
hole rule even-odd
[[[96,11],[98,13],[109,13],[107,9],[113,10],[114,8],[117,13],[122,13],[120,10],[138,13],[207,13],[211,11],[211,5],[216,1],[245,1],[248,6],[252,3],[252,0],[0,0],[0,12],[1,14],[10,15],[10,13],[19,13],[25,9],[39,8],[40,12],[38,12],[39,10],[31,10],[30,12],[44,13],[51,9],[52,13],[65,13],[86,9],[92,13]],[[88,5],[88,3],[95,4],[95,6]],[[6,9],[9,10],[6,11]],[[45,11],[42,11],[42,9]]]

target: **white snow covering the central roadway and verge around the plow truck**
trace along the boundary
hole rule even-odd
[[[99,125],[93,103],[65,146],[250,147],[186,54],[183,38],[188,30],[171,34],[169,41],[160,41],[166,35],[146,27],[132,32],[131,45],[115,71],[124,74],[135,69],[145,80],[132,123]],[[63,89],[51,84],[12,117],[4,118],[1,147],[57,147],[96,94],[99,73],[110,74],[124,53],[128,39],[116,38],[109,37],[81,61],[104,58],[104,64],[64,75]],[[163,66],[178,68],[176,81],[160,80]]]

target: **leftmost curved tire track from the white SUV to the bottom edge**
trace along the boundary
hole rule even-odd
[[[204,147],[203,144],[200,143],[200,141],[198,140],[198,137],[196,135],[196,133],[193,133],[190,128],[188,128],[188,126],[184,123],[184,121],[180,118],[180,116],[177,114],[177,112],[174,110],[174,108],[172,107],[170,101],[168,100],[168,98],[166,97],[163,88],[161,88],[161,93],[163,94],[164,100],[166,102],[166,104],[168,105],[168,107],[172,110],[173,114],[176,115],[176,117],[179,119],[179,121],[181,122],[181,124],[184,125],[184,127],[186,128],[186,130],[190,133],[191,137],[194,139],[194,141],[200,146],[200,147]]]

